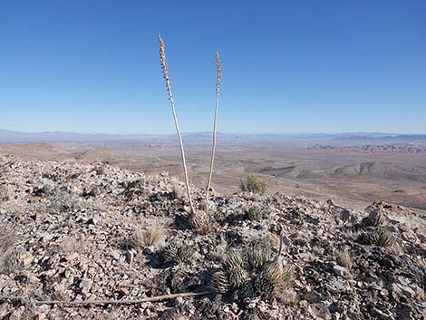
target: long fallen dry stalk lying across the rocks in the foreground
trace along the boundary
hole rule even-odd
[[[86,300],[86,301],[64,301],[64,300],[30,300],[22,296],[0,296],[2,300],[18,300],[18,301],[31,301],[34,305],[137,305],[144,302],[156,302],[167,299],[174,299],[177,297],[185,296],[206,296],[211,294],[211,291],[203,292],[186,292],[181,294],[165,295],[165,296],[150,296],[138,300]]]

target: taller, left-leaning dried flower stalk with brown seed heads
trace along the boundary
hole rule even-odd
[[[194,213],[195,212],[194,205],[192,204],[191,193],[190,193],[190,190],[189,190],[189,179],[188,179],[187,162],[185,160],[185,150],[183,149],[183,141],[182,141],[182,136],[180,135],[178,117],[176,116],[175,102],[173,101],[173,93],[171,92],[171,84],[170,84],[170,79],[169,79],[169,68],[167,66],[167,61],[166,61],[166,45],[164,44],[164,41],[161,39],[160,34],[159,34],[159,43],[160,43],[161,69],[162,69],[162,72],[163,72],[164,80],[166,81],[166,88],[167,88],[167,92],[169,94],[171,112],[173,113],[173,119],[175,121],[175,126],[176,126],[176,132],[178,133],[179,145],[180,145],[180,155],[182,157],[183,171],[185,173],[185,184],[187,185],[189,207],[191,208],[192,213]]]

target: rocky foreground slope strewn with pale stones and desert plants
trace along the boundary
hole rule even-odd
[[[357,212],[279,193],[213,193],[207,202],[193,189],[209,221],[196,230],[183,190],[168,174],[0,156],[0,318],[426,317],[424,217],[382,202]],[[279,276],[265,286],[271,266]],[[186,292],[211,293],[43,303]]]

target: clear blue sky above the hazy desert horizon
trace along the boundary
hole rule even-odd
[[[426,2],[0,1],[0,128],[426,131]]]

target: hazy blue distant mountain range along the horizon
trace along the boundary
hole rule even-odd
[[[183,133],[189,143],[203,143],[211,140],[211,132]],[[349,133],[223,133],[218,139],[227,142],[267,142],[275,143],[318,143],[354,144],[354,143],[426,143],[426,134],[391,134],[380,132]],[[0,143],[137,143],[137,144],[174,144],[175,134],[106,134],[76,133],[61,131],[25,132],[0,129]]]

